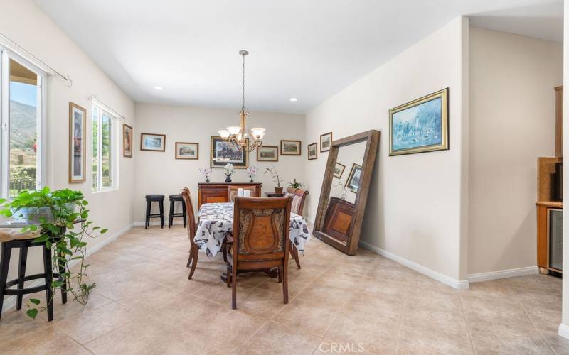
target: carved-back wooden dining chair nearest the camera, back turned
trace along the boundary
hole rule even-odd
[[[284,301],[289,302],[287,266],[291,202],[292,197],[235,197],[233,246],[227,263],[234,310],[237,308],[238,271],[277,268]]]

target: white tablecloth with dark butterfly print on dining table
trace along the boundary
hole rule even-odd
[[[208,258],[221,251],[223,241],[233,233],[233,202],[204,203],[198,211],[196,242]],[[291,212],[289,238],[292,246],[304,255],[304,245],[310,240],[306,220]]]

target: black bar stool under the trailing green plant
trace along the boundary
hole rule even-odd
[[[29,293],[36,293],[39,291],[46,290],[46,300],[49,302],[52,299],[53,291],[51,290],[51,283],[53,281],[53,276],[59,278],[59,273],[53,273],[52,263],[51,263],[51,249],[46,247],[46,243],[34,242],[38,234],[26,233],[21,234],[20,229],[10,228],[10,229],[0,229],[0,242],[1,247],[1,259],[0,259],[0,317],[2,315],[2,305],[4,305],[5,295],[16,295],[16,310],[21,310],[23,295]],[[33,246],[41,247],[43,251],[43,273],[36,273],[33,275],[26,276],[26,261],[28,258],[28,248]],[[20,249],[20,263],[18,264],[18,278],[14,280],[8,280],[8,269],[10,266],[10,256],[12,249]],[[65,272],[65,266],[59,263],[59,272]],[[23,288],[23,283],[30,280],[38,280],[43,278],[46,280],[44,285]],[[64,281],[62,278],[60,281]],[[16,285],[16,288],[11,288]],[[67,288],[65,283],[61,285],[61,301],[62,303],[67,303]],[[47,305],[48,309],[48,321],[53,320],[53,300]]]

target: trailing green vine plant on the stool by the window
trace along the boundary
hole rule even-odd
[[[83,239],[85,236],[95,238],[107,232],[107,229],[92,226],[93,222],[88,220],[87,204],[83,192],[69,189],[50,191],[49,187],[22,191],[12,200],[0,199],[2,216],[26,219],[29,224],[23,227],[22,232],[36,232],[38,237],[34,241],[43,242],[52,250],[52,272],[58,270],[59,266],[65,267],[65,272],[60,273],[59,278],[53,278],[53,295],[56,289],[65,285],[66,292],[71,293],[73,299],[82,305],[87,304],[95,288],[95,283],[84,282],[88,265],[85,264],[87,242]],[[72,272],[70,263],[78,263],[79,270]],[[46,310],[49,302],[53,302],[53,297],[46,300],[46,305],[41,305],[41,301],[34,298],[29,302],[26,313],[36,318],[38,312]]]

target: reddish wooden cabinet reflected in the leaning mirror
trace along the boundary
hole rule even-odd
[[[324,233],[340,241],[348,240],[355,206],[353,203],[331,197],[326,217],[324,217]]]

